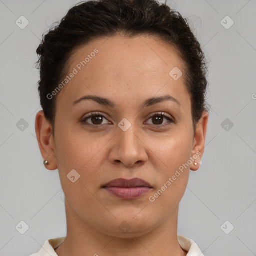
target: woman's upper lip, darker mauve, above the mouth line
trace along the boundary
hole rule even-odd
[[[109,181],[105,185],[103,185],[103,187],[109,187],[109,186],[117,186],[117,187],[142,187],[142,186],[145,186],[145,187],[152,188],[152,186],[148,182],[146,182],[145,180],[143,180],[141,178],[132,178],[132,179],[116,178],[116,179]]]

